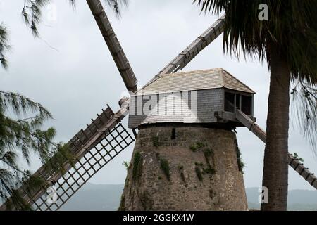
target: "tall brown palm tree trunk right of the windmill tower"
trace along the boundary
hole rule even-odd
[[[290,68],[287,60],[275,49],[275,44],[268,45],[271,82],[262,183],[268,188],[268,203],[262,203],[261,210],[280,211],[287,210]]]

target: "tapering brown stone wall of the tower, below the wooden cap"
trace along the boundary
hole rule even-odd
[[[139,130],[119,210],[247,210],[235,133],[174,129]]]

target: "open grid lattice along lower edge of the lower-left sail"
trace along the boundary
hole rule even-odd
[[[83,131],[82,131],[83,132]],[[80,140],[80,139],[79,139]],[[56,199],[51,199],[52,194],[42,195],[33,205],[35,210],[55,211],[60,209],[87,181],[94,176],[108,162],[113,160],[125,148],[134,141],[121,123],[108,134],[97,146],[86,151],[83,157],[78,160],[75,167],[72,167],[61,179],[54,184]],[[82,143],[80,141],[80,143]],[[84,143],[82,143],[84,144]]]

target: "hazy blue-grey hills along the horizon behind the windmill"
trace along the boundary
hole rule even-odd
[[[247,188],[249,209],[259,209],[258,188]],[[65,211],[113,211],[120,204],[123,184],[86,184],[63,205]],[[294,190],[288,194],[288,210],[317,211],[317,191]]]

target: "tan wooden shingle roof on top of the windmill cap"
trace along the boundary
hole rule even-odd
[[[157,77],[135,95],[227,88],[254,94],[255,92],[223,68],[178,72]]]

